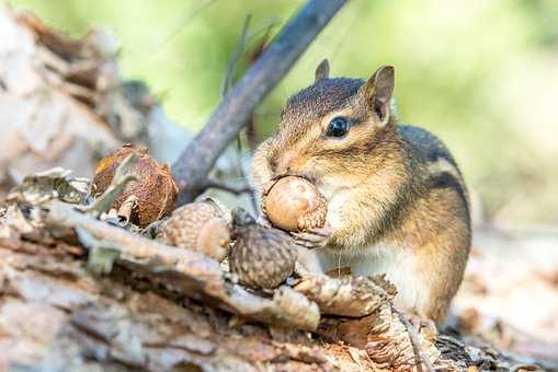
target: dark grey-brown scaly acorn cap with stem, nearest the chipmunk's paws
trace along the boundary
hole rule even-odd
[[[264,228],[243,209],[234,211],[235,244],[229,256],[230,271],[252,289],[275,289],[295,268],[296,244],[284,231]]]

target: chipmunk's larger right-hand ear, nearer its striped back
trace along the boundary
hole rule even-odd
[[[394,67],[383,66],[360,89],[369,107],[378,115],[382,125],[386,125],[389,121],[394,86]]]

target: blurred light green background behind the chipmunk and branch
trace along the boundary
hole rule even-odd
[[[112,31],[123,74],[146,81],[171,118],[197,130],[220,100],[247,14],[250,50],[304,1],[9,3],[71,35]],[[261,138],[324,57],[333,75],[394,65],[401,119],[448,144],[487,219],[558,223],[557,0],[352,0],[258,109]]]

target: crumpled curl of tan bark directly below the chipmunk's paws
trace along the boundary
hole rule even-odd
[[[318,334],[364,349],[378,368],[409,371],[436,365],[458,371],[458,365],[442,358],[434,341],[437,333],[429,328],[409,329],[392,305],[397,289],[383,277],[341,277],[306,274],[294,289],[320,306],[323,318]]]

